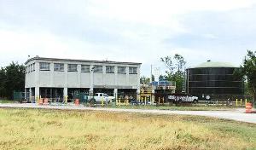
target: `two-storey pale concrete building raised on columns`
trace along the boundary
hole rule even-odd
[[[75,91],[88,94],[137,96],[141,63],[86,61],[33,57],[26,61],[25,90],[30,97],[72,98]]]

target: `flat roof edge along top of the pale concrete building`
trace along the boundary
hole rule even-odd
[[[74,62],[90,62],[90,63],[108,63],[108,64],[125,64],[125,65],[142,65],[139,62],[121,62],[121,61],[90,61],[90,60],[73,60],[73,59],[60,59],[60,58],[45,58],[45,57],[33,57],[28,59],[25,62],[25,65],[34,60],[43,60],[43,61],[74,61]]]

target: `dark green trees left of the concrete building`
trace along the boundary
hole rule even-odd
[[[25,66],[12,62],[0,69],[0,97],[12,99],[13,91],[23,91]]]

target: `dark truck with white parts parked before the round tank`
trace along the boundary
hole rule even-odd
[[[198,97],[189,95],[189,94],[172,94],[168,95],[168,101],[175,103],[175,104],[181,104],[181,103],[197,103]]]

